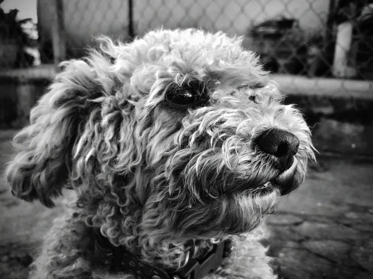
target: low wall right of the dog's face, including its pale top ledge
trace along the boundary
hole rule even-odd
[[[373,81],[273,75],[312,129],[321,154],[373,156]]]

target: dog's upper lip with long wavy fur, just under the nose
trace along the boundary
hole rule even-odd
[[[221,200],[235,195],[261,198],[274,192],[285,195],[298,187],[305,173],[303,157],[298,154],[289,156],[280,168],[273,156],[253,153],[248,148],[223,155],[212,149],[208,151],[211,154],[192,156],[181,172],[175,168],[172,173],[195,200]],[[178,198],[178,191],[170,193],[173,199]]]

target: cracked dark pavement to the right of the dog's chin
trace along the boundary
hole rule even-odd
[[[270,252],[287,279],[373,278],[373,164],[318,161],[268,218]]]

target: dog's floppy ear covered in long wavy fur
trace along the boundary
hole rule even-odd
[[[75,139],[96,105],[89,100],[102,94],[89,63],[72,60],[64,66],[49,92],[31,110],[30,125],[15,136],[18,153],[6,169],[15,196],[27,201],[39,199],[48,207],[54,205],[51,198],[60,195],[66,184]]]

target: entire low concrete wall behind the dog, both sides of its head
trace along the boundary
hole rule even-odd
[[[0,75],[0,128],[27,124],[31,107],[55,75]],[[49,73],[49,74],[48,74]],[[320,153],[373,156],[372,82],[274,75],[286,104],[296,104]]]

